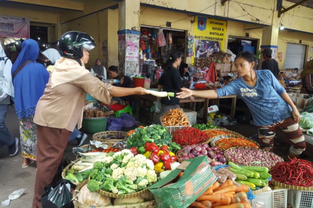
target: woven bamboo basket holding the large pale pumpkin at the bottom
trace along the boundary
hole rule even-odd
[[[81,189],[81,187],[85,186],[87,184],[88,180],[85,180],[81,182],[75,189],[74,194],[73,194],[73,203],[75,208],[156,208],[157,204],[156,201],[146,201],[146,202],[141,202],[141,203],[135,203],[135,204],[128,204],[128,205],[118,205],[118,206],[85,206],[82,205],[78,202],[78,194]]]

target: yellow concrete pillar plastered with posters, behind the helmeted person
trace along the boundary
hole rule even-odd
[[[118,60],[119,70],[127,76],[139,74],[140,0],[119,2]]]

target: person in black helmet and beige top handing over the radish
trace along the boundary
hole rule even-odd
[[[33,208],[41,207],[40,197],[44,187],[53,182],[71,132],[76,124],[81,128],[87,92],[106,104],[113,96],[147,94],[141,87],[121,88],[105,84],[85,69],[88,51],[95,46],[91,36],[78,31],[66,32],[59,40],[63,57],[57,60],[50,74],[34,116],[38,146]]]

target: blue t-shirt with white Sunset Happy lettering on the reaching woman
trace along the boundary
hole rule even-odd
[[[217,89],[218,97],[237,94],[247,104],[256,126],[267,126],[291,116],[291,108],[280,96],[285,92],[269,70],[256,70],[254,87],[247,85],[242,77],[225,87]]]

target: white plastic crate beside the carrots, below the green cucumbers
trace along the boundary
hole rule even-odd
[[[286,208],[288,189],[265,191],[256,194],[254,199],[249,200],[252,207],[257,208]]]

